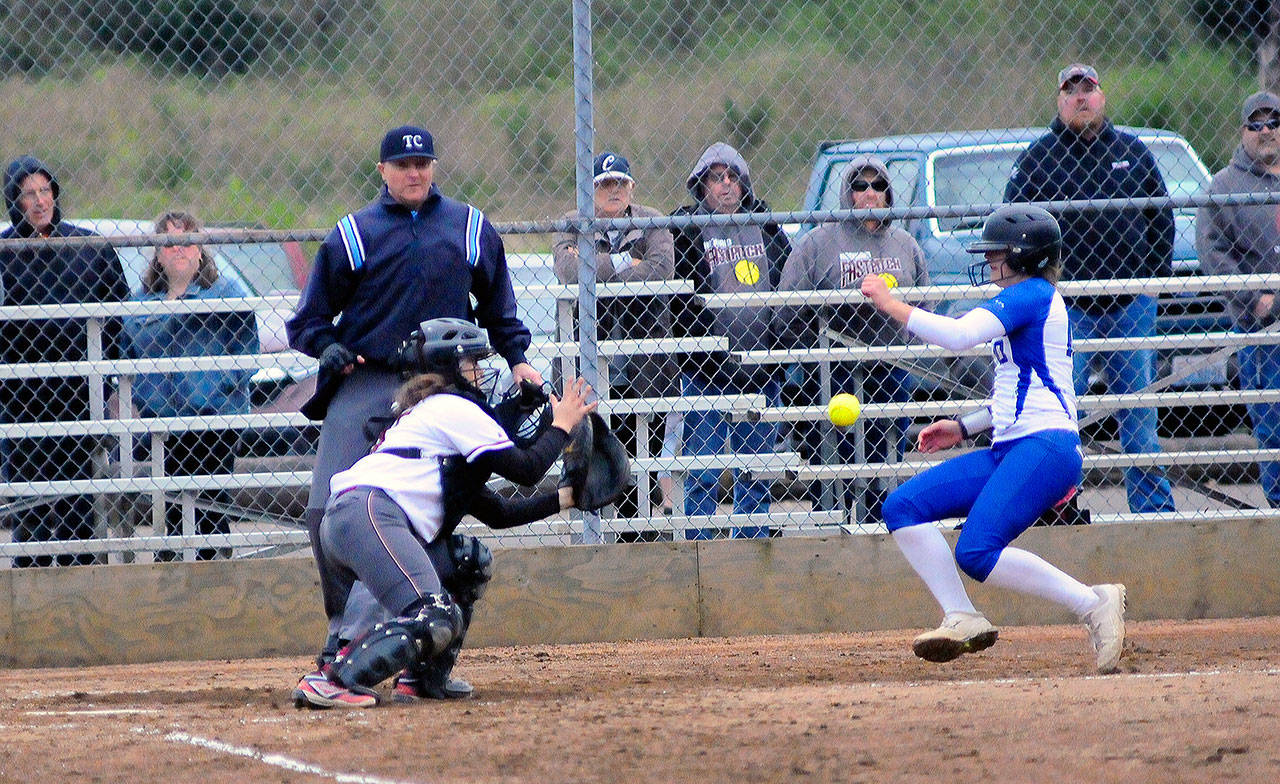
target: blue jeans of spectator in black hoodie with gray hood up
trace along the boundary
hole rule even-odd
[[[684,375],[681,393],[742,395],[763,392],[769,405],[778,404],[778,384],[769,382],[762,389],[741,389],[736,384],[719,386],[704,378]],[[689,411],[685,414],[685,455],[721,455],[728,451],[744,455],[769,452],[777,439],[777,425],[768,421],[730,421],[719,411]],[[731,466],[724,466],[731,468]],[[714,515],[719,487],[719,468],[689,471],[685,478],[685,514]],[[733,514],[748,515],[769,511],[772,482],[750,479],[739,469],[733,470]],[[767,527],[733,528],[732,538],[767,537]],[[699,537],[691,537],[699,538]]]

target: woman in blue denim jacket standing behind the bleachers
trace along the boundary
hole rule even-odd
[[[186,234],[201,229],[200,220],[188,213],[165,213],[155,222],[155,231],[160,233]],[[134,292],[133,298],[157,302],[247,296],[243,286],[218,273],[218,263],[204,246],[166,245],[155,250],[142,274],[142,288]],[[129,356],[134,359],[225,356],[257,354],[259,350],[257,322],[252,310],[129,316],[124,319],[124,333]],[[133,402],[142,416],[248,414],[248,379],[252,374],[248,369],[145,373],[134,382]],[[238,441],[239,433],[232,429],[170,433],[164,450],[164,473],[166,477],[229,474],[236,465]],[[214,503],[229,501],[227,491],[210,491],[201,496]],[[164,528],[168,535],[182,533],[180,505],[166,505]],[[230,521],[224,512],[196,509],[195,533],[230,533]],[[196,551],[196,560],[209,561],[219,555],[229,556],[230,548],[202,547]],[[178,553],[172,550],[156,553],[159,561],[175,557]]]

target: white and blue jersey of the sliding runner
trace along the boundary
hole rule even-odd
[[[1062,295],[1048,281],[1030,278],[979,307],[1005,328],[991,343],[996,363],[992,442],[1039,430],[1075,430],[1071,327]]]

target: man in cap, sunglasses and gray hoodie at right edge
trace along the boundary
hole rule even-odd
[[[1254,92],[1240,111],[1240,146],[1231,163],[1213,176],[1210,193],[1266,193],[1280,191],[1280,97]],[[1216,275],[1280,272],[1280,210],[1275,204],[1210,205],[1196,220],[1196,251],[1204,272]],[[1228,292],[1240,332],[1274,328],[1280,311],[1274,291]],[[1245,346],[1239,352],[1240,387],[1280,388],[1280,346]],[[1249,406],[1258,447],[1280,448],[1280,405]],[[1280,462],[1262,462],[1262,489],[1280,507]]]

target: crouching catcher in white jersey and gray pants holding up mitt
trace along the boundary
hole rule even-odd
[[[451,673],[492,556],[454,533],[462,516],[512,528],[570,507],[600,509],[628,488],[626,452],[594,412],[598,404],[586,402],[591,388],[581,378],[566,383],[563,397],[550,396],[549,427],[517,446],[483,392],[497,379],[479,365],[490,354],[485,332],[461,319],[422,322],[401,348],[402,366],[416,374],[396,395],[398,416],[367,456],[333,477],[320,525],[339,587],[358,579],[394,617],[303,675],[297,707],[374,707],[374,687],[392,675],[397,702],[471,696]],[[485,487],[492,474],[532,486],[562,450],[554,492],[506,498]]]

